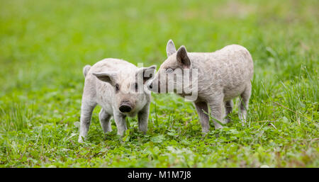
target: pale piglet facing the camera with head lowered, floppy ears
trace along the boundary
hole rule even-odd
[[[92,67],[83,69],[85,77],[81,106],[79,142],[83,142],[89,131],[91,115],[97,104],[101,106],[99,120],[104,132],[111,132],[110,118],[113,116],[118,135],[127,130],[125,117],[138,115],[138,128],[147,132],[150,110],[150,91],[147,81],[155,74],[156,66],[135,67],[121,59],[103,59]]]

